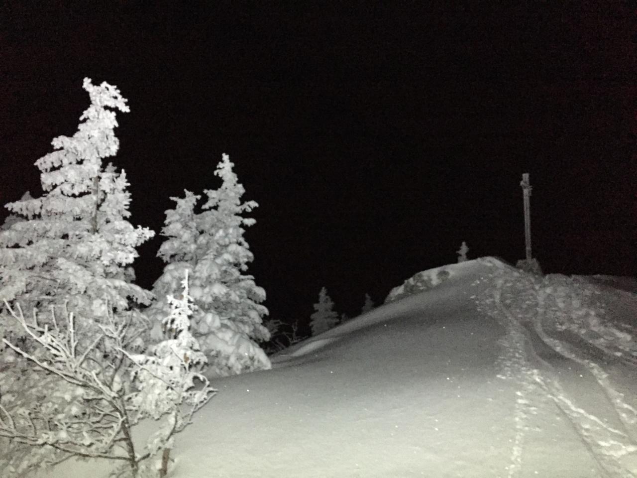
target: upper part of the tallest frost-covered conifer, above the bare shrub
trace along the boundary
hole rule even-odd
[[[114,110],[128,112],[126,100],[108,83],[85,78],[83,88],[91,104],[78,131],[55,138],[55,151],[36,162],[43,196],[6,205],[24,220],[0,231],[0,299],[26,310],[66,303],[88,318],[105,315],[106,300],[118,311],[150,300],[127,266],[154,233],[127,221],[125,173],[103,166],[118,150]]]

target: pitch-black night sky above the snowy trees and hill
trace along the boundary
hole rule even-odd
[[[41,194],[33,163],[75,133],[89,76],[129,99],[113,163],[134,224],[159,232],[230,154],[273,318],[305,321],[322,286],[355,315],[463,240],[521,259],[524,172],[545,272],[636,275],[632,3],[97,4],[0,7],[3,205]]]

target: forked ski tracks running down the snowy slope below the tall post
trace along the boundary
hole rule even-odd
[[[529,418],[536,410],[529,400],[532,396],[537,396],[538,391],[553,400],[561,413],[568,418],[583,446],[598,463],[601,476],[634,478],[636,476],[634,461],[633,470],[629,470],[630,460],[628,463],[622,463],[620,459],[631,454],[634,457],[637,451],[634,441],[635,431],[631,428],[637,421],[637,410],[626,403],[624,395],[613,388],[608,380],[608,373],[601,366],[590,359],[578,356],[578,352],[569,348],[568,344],[549,337],[543,330],[543,294],[538,293],[539,303],[535,317],[515,317],[503,304],[501,296],[504,288],[505,279],[499,277],[496,279],[494,289],[489,292],[492,293],[492,307],[495,309],[493,312],[496,312],[507,331],[505,338],[500,341],[503,345],[501,357],[503,372],[500,377],[515,379],[519,383],[514,416],[516,432],[508,467],[508,478],[519,478],[524,475],[524,438],[529,430]],[[595,385],[599,388],[598,392],[603,392],[607,398],[606,405],[612,405],[612,407],[599,406],[596,409],[597,413],[600,409],[605,412],[603,419],[576,405],[575,400],[562,387],[554,366],[536,351],[538,345],[548,345],[557,354],[572,361],[573,365],[583,366],[589,373],[588,381],[593,382],[591,379],[594,379]],[[568,368],[572,367],[568,366]],[[601,403],[598,402],[596,405]],[[609,408],[612,410],[608,410]],[[612,415],[613,411],[617,413],[614,417],[615,421],[618,421],[617,417],[619,417],[622,430],[608,424],[613,420],[606,416]]]

